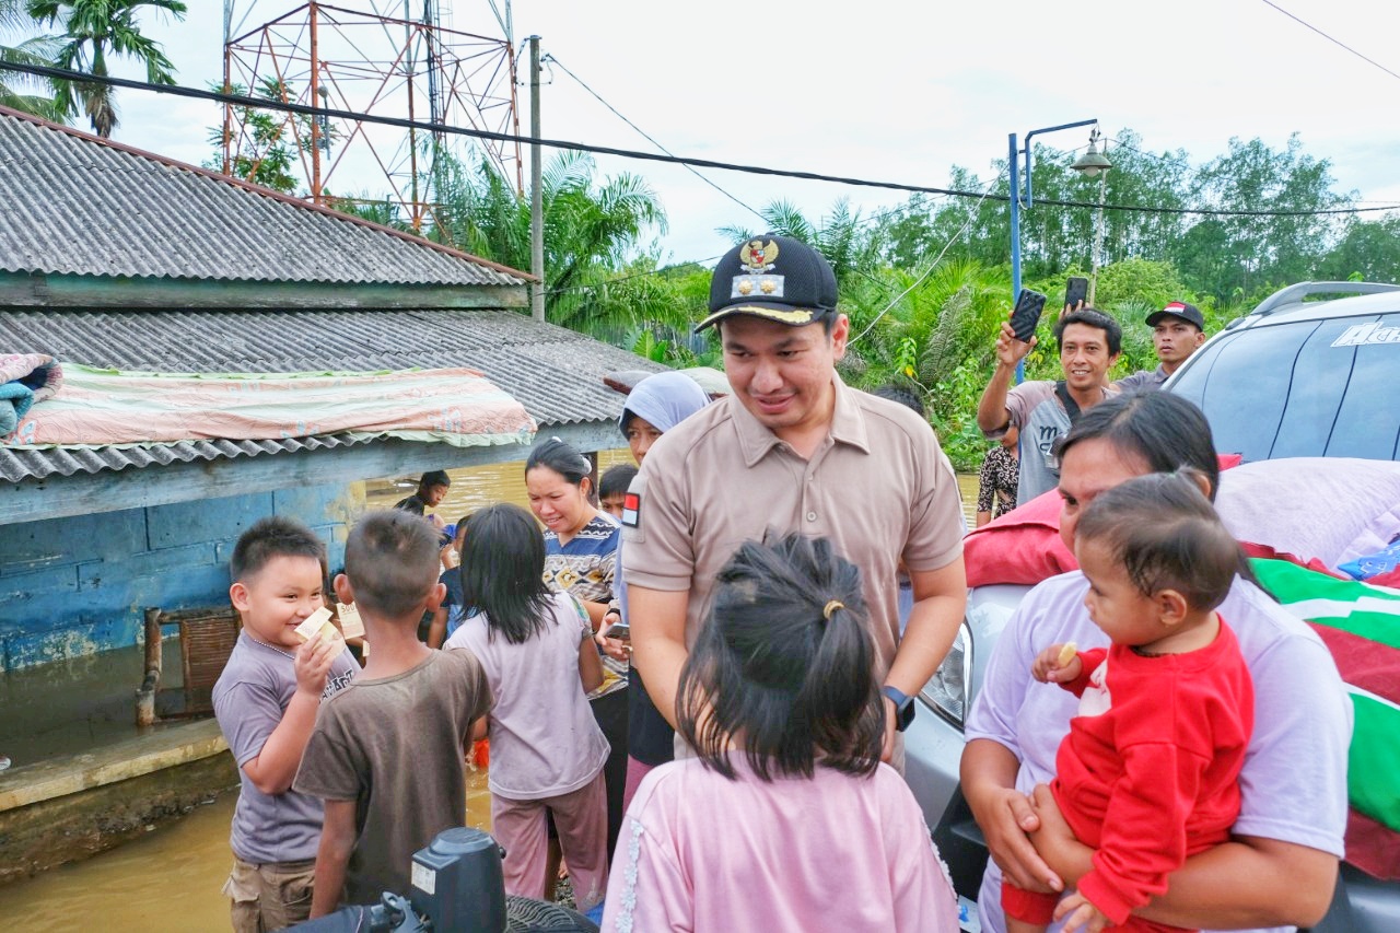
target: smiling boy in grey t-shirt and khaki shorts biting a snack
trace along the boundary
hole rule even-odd
[[[241,785],[224,883],[237,933],[277,930],[311,911],[322,806],[291,780],[321,700],[360,670],[335,626],[322,628],[325,565],[321,539],[280,516],[245,531],[230,562],[228,598],[244,628],[213,699]]]

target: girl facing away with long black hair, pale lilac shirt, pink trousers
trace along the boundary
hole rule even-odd
[[[462,597],[477,615],[447,647],[482,661],[496,705],[491,834],[505,849],[505,892],[542,899],[547,880],[545,814],[554,817],[580,911],[608,887],[608,740],[588,709],[602,684],[588,614],[543,580],[545,538],[528,511],[496,504],[475,513],[462,542]]]

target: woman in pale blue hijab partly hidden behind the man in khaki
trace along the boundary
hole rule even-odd
[[[689,375],[682,373],[657,373],[648,375],[627,396],[617,419],[617,427],[627,438],[627,447],[637,465],[647,457],[647,451],[658,437],[672,427],[690,417],[710,403],[710,396]],[[617,552],[619,562],[622,552]],[[619,563],[619,566],[623,566]],[[613,581],[616,605],[609,608],[605,622],[617,622],[619,618],[627,623],[627,584],[623,574],[617,573]],[[599,644],[612,657],[623,656],[630,650],[617,639],[608,637],[608,630],[598,633]],[[641,682],[637,668],[630,668],[627,674],[627,786],[623,792],[623,810],[631,803],[631,796],[637,792],[637,785],[647,776],[647,772],[672,759],[672,737],[675,731],[647,695],[647,688]]]

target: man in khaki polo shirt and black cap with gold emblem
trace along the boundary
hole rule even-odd
[[[696,329],[718,326],[732,395],[655,443],[623,513],[633,663],[673,726],[680,667],[739,544],[770,530],[829,538],[861,569],[888,759],[966,604],[952,466],[923,419],[836,374],[850,321],[811,247],[771,234],[735,247],[715,268],[710,310]],[[900,560],[914,588],[903,640]]]

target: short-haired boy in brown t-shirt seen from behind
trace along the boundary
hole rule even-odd
[[[340,602],[374,646],[356,682],[326,703],[295,789],[325,800],[311,916],[406,895],[413,853],[466,818],[463,756],[486,734],[491,693],[476,656],[434,651],[419,619],[442,601],[437,531],[416,516],[368,513],[346,542]]]

